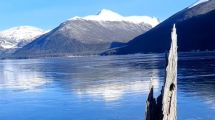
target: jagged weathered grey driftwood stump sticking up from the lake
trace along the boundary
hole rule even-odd
[[[172,44],[166,67],[165,83],[157,100],[151,87],[146,105],[146,120],[176,120],[177,119],[177,34],[175,25],[172,30]]]

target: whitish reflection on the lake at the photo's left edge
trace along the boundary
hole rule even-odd
[[[1,67],[0,89],[35,89],[47,83],[39,72],[24,69],[10,61],[6,61]]]

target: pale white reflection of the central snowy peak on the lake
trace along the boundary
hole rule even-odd
[[[124,94],[141,92],[147,94],[150,85],[155,88],[159,87],[159,80],[153,79],[149,81],[133,81],[125,83],[107,83],[102,85],[91,85],[85,88],[76,89],[78,95],[89,95],[95,99],[104,99],[107,102],[119,100]]]

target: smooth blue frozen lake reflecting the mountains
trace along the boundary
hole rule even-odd
[[[1,60],[0,120],[144,120],[164,70],[162,54]],[[214,114],[215,53],[181,54],[178,119]]]

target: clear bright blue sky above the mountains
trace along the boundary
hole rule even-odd
[[[29,25],[52,29],[73,16],[110,9],[121,15],[147,15],[165,20],[196,0],[1,0],[0,30]]]

